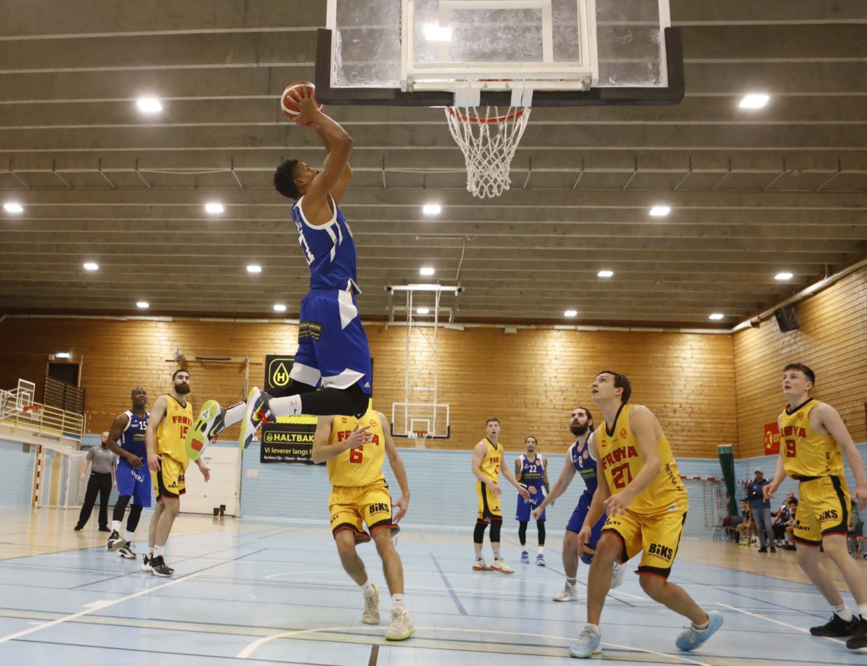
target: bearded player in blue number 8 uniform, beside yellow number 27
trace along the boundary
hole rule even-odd
[[[578,600],[578,532],[581,532],[584,517],[590,510],[590,501],[593,500],[593,493],[596,493],[596,460],[593,460],[590,448],[587,446],[590,433],[593,432],[593,416],[590,415],[590,410],[585,407],[574,408],[570,415],[569,429],[577,439],[572,442],[572,445],[566,452],[563,472],[560,473],[560,478],[551,487],[551,493],[548,493],[547,497],[532,513],[533,518],[538,518],[544,512],[545,506],[553,504],[566,491],[566,488],[569,487],[569,484],[575,477],[575,473],[581,474],[584,480],[584,492],[578,500],[575,511],[572,512],[572,517],[569,519],[569,524],[566,526],[566,533],[563,538],[563,568],[566,573],[566,586],[562,591],[554,595],[554,601]],[[603,516],[596,522],[592,532],[590,532],[590,540],[583,545],[581,559],[586,565],[590,564],[591,558],[596,552],[596,542],[602,535],[602,526],[606,518],[607,516]],[[625,572],[625,562],[623,564],[614,564],[614,571],[611,574],[612,589],[623,583],[623,574]]]

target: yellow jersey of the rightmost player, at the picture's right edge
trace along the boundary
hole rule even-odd
[[[792,479],[803,476],[843,476],[843,451],[830,434],[818,434],[810,426],[810,411],[818,400],[779,415],[779,446],[783,453],[783,467]]]

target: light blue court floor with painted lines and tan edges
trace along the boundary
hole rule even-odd
[[[585,565],[582,601],[551,601],[564,584],[554,539],[543,568],[521,565],[514,535],[505,537],[504,554],[517,570],[505,576],[471,570],[468,531],[405,527],[397,548],[416,632],[406,642],[386,643],[391,604],[375,548],[359,547],[383,592],[382,623],[370,627],[361,622],[361,593],[342,571],[322,524],[181,516],[167,548],[175,576],[155,578],[140,571],[140,560],[106,552],[95,526],[72,532],[72,512],[3,509],[0,515],[0,664],[544,666],[575,663],[567,650],[585,617]],[[146,544],[135,545],[141,552]],[[630,571],[606,604],[603,653],[593,660],[867,663],[864,652],[807,633],[830,610],[812,587],[794,582],[795,574],[780,575],[794,566],[793,555],[685,539],[671,579],[705,609],[720,610],[723,628],[697,652],[675,650],[684,620],[651,602]],[[746,569],[766,563],[774,577],[737,571],[732,563],[739,559]]]

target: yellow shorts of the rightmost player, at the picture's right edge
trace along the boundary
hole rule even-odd
[[[822,545],[827,534],[849,533],[851,495],[842,476],[801,477],[792,538],[804,545]]]

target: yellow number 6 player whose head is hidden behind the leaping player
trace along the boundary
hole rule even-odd
[[[388,464],[401,486],[401,498],[394,501],[399,511],[392,516],[391,495],[382,474],[382,461],[388,455]],[[325,462],[331,483],[329,513],[331,532],[343,569],[362,588],[364,610],[362,622],[379,624],[380,595],[376,585],[368,579],[362,558],[355,545],[368,542],[371,537],[376,552],[382,559],[388,591],[391,593],[391,625],[386,640],[403,641],[412,636],[415,628],[407,617],[403,597],[403,565],[394,550],[392,534],[397,523],[407,513],[409,486],[407,470],[397,453],[385,415],[373,408],[359,416],[320,416],[313,436],[314,462]],[[368,526],[368,532],[364,531]]]

